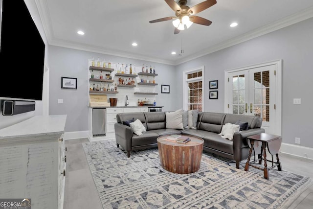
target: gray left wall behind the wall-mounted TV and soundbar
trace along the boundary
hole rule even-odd
[[[26,6],[29,10],[29,13],[31,14],[37,29],[41,35],[41,37],[44,40],[45,43],[45,64],[48,66],[49,60],[48,60],[48,49],[49,49],[49,45],[45,36],[45,31],[44,31],[44,27],[43,24],[41,23],[40,20],[40,16],[37,10],[37,6],[35,3],[35,0],[24,0],[26,3]],[[45,85],[45,84],[44,84]],[[1,99],[10,99],[10,98],[4,98],[4,97],[0,97]],[[14,99],[14,98],[11,98]],[[43,115],[43,102],[42,101],[36,101],[36,107],[35,107],[35,111],[32,112],[28,112],[28,113],[23,113],[23,114],[19,114],[19,115],[15,115],[15,116],[2,116],[2,112],[0,113],[0,129],[13,125],[15,123],[21,122],[22,120],[28,119],[32,116],[35,115]]]

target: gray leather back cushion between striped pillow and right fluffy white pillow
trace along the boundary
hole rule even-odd
[[[201,121],[199,123],[199,129],[219,134],[219,133],[221,133],[222,126],[224,125],[223,121],[224,121],[225,116],[226,116],[226,114],[224,114],[224,113],[207,113],[207,112],[205,112],[201,116]]]

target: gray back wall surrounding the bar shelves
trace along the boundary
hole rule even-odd
[[[106,61],[111,59],[116,63],[132,63],[138,66],[148,64],[156,67],[156,104],[164,106],[164,111],[176,109],[174,95],[177,93],[176,86],[173,85],[175,78],[175,67],[159,63],[135,60],[112,55],[92,53],[88,51],[69,49],[59,46],[49,47],[49,115],[67,115],[66,132],[88,131],[88,105],[89,105],[89,80],[88,80],[88,60],[94,57]],[[61,77],[77,78],[77,90],[61,89]],[[161,93],[161,84],[170,85],[170,93]],[[120,90],[122,91],[122,90]],[[109,97],[109,96],[108,96]],[[133,101],[134,94],[128,95]],[[144,96],[143,96],[144,97]],[[63,104],[58,104],[57,100],[63,99]]]

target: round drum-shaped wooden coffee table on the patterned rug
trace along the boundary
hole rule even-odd
[[[156,139],[161,166],[173,173],[194,173],[200,169],[203,139],[188,135],[191,140],[179,143],[167,140],[170,135]]]

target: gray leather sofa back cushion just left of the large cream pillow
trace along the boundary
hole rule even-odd
[[[163,129],[165,128],[165,113],[164,112],[147,112],[144,113],[147,122],[147,130]]]

